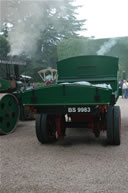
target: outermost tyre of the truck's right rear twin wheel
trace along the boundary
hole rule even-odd
[[[113,140],[114,145],[120,145],[121,142],[121,113],[120,107],[114,106],[114,132],[113,132]]]

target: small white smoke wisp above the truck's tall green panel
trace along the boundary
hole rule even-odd
[[[117,44],[119,38],[112,38],[105,42],[100,49],[96,52],[97,55],[104,55],[111,50]]]

